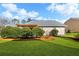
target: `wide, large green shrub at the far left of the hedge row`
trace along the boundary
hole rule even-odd
[[[16,38],[21,35],[21,29],[18,27],[6,26],[1,30],[1,37]]]

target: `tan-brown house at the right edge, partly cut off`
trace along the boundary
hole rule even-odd
[[[79,18],[70,18],[64,23],[66,26],[66,31],[79,32]]]

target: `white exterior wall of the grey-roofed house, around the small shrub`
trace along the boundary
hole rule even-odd
[[[54,27],[42,27],[42,29],[45,31],[44,35],[49,35],[50,31],[53,30]],[[65,28],[64,27],[57,27],[56,29],[59,31],[58,35],[64,35],[65,34]]]

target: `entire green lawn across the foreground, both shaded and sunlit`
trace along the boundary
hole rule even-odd
[[[79,56],[79,42],[56,37],[55,40],[0,40],[0,55]]]

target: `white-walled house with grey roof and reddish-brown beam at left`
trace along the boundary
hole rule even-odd
[[[65,34],[65,26],[55,20],[35,20],[35,21],[30,21],[27,24],[17,24],[17,26],[18,27],[39,26],[40,28],[42,28],[45,31],[44,35],[49,35],[50,31],[55,28],[58,30],[58,35]]]

